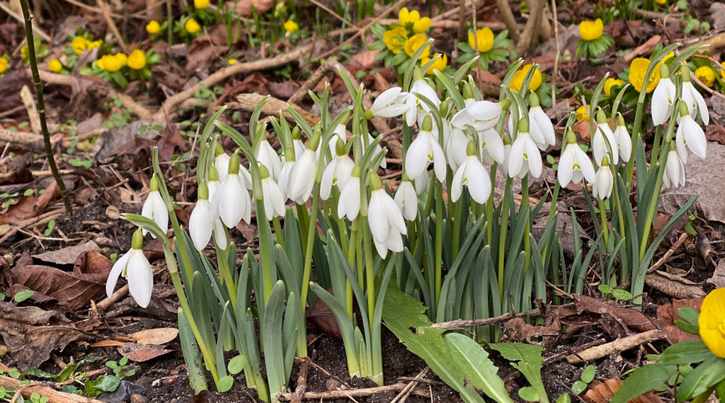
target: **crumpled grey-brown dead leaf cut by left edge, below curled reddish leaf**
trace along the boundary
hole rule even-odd
[[[17,361],[18,369],[39,367],[54,349],[86,338],[65,316],[38,307],[17,307],[0,301],[0,338]]]

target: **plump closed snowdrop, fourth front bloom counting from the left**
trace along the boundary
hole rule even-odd
[[[239,154],[232,154],[229,159],[229,171],[215,192],[212,204],[216,205],[227,228],[236,227],[241,220],[245,223],[252,220],[252,201],[244,180],[239,176]]]

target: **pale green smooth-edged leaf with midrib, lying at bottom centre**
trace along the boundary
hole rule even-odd
[[[502,379],[497,375],[498,368],[489,360],[486,350],[470,337],[460,333],[447,334],[445,339],[451,352],[451,360],[465,374],[468,382],[497,402],[513,402]]]

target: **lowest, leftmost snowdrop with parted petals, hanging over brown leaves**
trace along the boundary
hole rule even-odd
[[[144,234],[136,230],[131,239],[131,249],[118,259],[111,269],[106,281],[106,295],[110,298],[113,288],[116,287],[118,277],[128,281],[128,292],[140,307],[145,308],[151,302],[151,293],[154,290],[154,272],[151,270],[149,260],[144,256]]]

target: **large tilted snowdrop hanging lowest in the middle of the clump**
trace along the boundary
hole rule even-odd
[[[402,252],[402,235],[407,233],[402,212],[395,201],[384,190],[376,173],[370,170],[370,203],[368,204],[368,225],[373,235],[378,254],[385,259],[388,251]],[[349,185],[348,185],[349,186]]]

